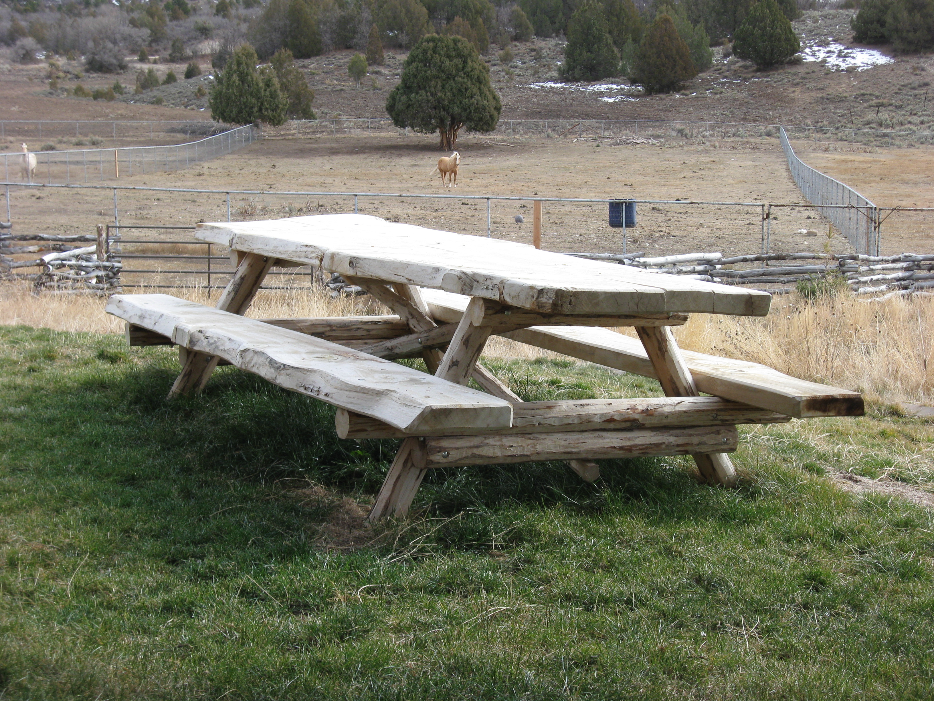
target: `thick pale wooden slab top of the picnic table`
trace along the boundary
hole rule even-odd
[[[196,238],[358,278],[555,314],[765,316],[771,295],[364,214],[199,223]]]

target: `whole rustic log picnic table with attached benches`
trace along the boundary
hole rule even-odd
[[[596,459],[690,454],[702,479],[730,485],[736,424],[863,413],[859,393],[675,343],[687,314],[764,316],[768,293],[357,214],[201,223],[195,237],[238,259],[217,308],[134,294],[107,311],[133,345],[179,346],[170,395],[225,362],[333,404],[341,437],[403,438],[371,520],[403,515],[437,466],[568,460],[593,480]],[[294,265],[339,273],[394,314],[244,318],[269,270]],[[493,335],[654,377],[666,397],[522,402],[478,362]],[[432,375],[392,362],[417,356]]]

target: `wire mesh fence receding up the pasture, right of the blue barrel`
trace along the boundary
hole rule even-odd
[[[850,186],[801,161],[784,128],[779,138],[791,177],[808,202],[833,222],[857,253],[879,255],[879,208]]]

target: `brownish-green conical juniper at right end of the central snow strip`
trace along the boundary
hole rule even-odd
[[[642,85],[645,93],[669,93],[696,75],[690,50],[672,18],[658,15],[636,51],[630,80]]]

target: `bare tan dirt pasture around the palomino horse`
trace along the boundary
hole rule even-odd
[[[361,213],[477,236],[487,235],[487,203],[463,195],[511,195],[529,201],[490,202],[491,236],[531,242],[531,199],[580,197],[600,200],[635,198],[743,202],[749,207],[641,204],[638,223],[628,231],[629,250],[667,254],[695,250],[748,253],[761,245],[760,203],[792,204],[776,210],[771,222],[771,250],[823,250],[827,223],[804,205],[791,180],[785,156],[775,139],[701,144],[690,140],[658,145],[605,146],[572,139],[496,142],[483,136],[459,141],[462,155],[459,187],[442,189],[431,175],[440,155],[433,136],[311,136],[267,138],[246,149],[174,173],[121,177],[120,184],[204,190],[304,191],[318,193],[419,193],[454,195],[447,199],[361,197]],[[854,173],[874,162],[897,171],[901,159],[925,154],[803,152]],[[833,156],[831,159],[830,156]],[[923,163],[911,161],[902,177]],[[821,165],[822,166],[822,165]],[[837,172],[834,170],[833,172]],[[850,173],[844,173],[845,178]],[[918,176],[921,178],[922,176]],[[870,184],[856,181],[856,185]],[[904,187],[911,183],[906,181]],[[858,187],[857,187],[858,189]],[[870,197],[875,191],[863,188]],[[893,194],[897,194],[897,190]],[[11,195],[12,218],[47,233],[91,231],[113,221],[113,192],[103,189],[17,191]],[[904,200],[902,200],[904,202]],[[914,199],[910,200],[914,201]],[[921,200],[918,200],[919,202]],[[122,224],[191,224],[227,218],[226,196],[207,193],[120,191]],[[272,219],[304,214],[353,211],[347,195],[231,195],[231,218]],[[521,215],[525,222],[518,224]],[[891,220],[887,231],[900,221]],[[559,251],[622,250],[619,229],[607,223],[607,207],[599,203],[545,203],[543,245]],[[797,232],[810,229],[817,237]],[[137,233],[134,236],[157,236]],[[158,235],[162,237],[163,235]],[[177,236],[175,236],[177,238]],[[891,237],[884,250],[929,250],[922,236]],[[848,250],[837,237],[833,250]]]

